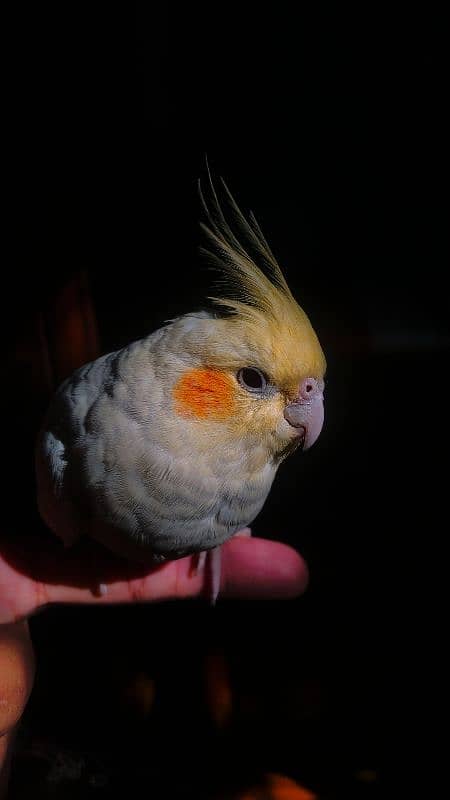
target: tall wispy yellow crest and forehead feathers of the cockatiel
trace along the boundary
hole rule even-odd
[[[221,180],[230,224],[209,175],[211,199],[199,185],[206,221],[201,223],[206,245],[201,252],[222,275],[224,294],[209,299],[231,314],[236,332],[260,346],[265,361],[281,383],[298,376],[323,376],[325,358],[311,323],[293,297],[284,275],[254,215],[247,220]],[[258,263],[257,263],[258,262]]]

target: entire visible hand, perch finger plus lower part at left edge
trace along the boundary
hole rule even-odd
[[[306,589],[306,564],[287,545],[238,536],[222,552],[221,597],[290,598]],[[93,587],[99,584],[106,584],[106,595],[96,596]],[[105,605],[195,597],[203,594],[206,584],[207,575],[195,571],[195,557],[146,569],[92,541],[71,550],[50,536],[46,542],[22,539],[20,546],[0,542],[0,798],[6,797],[14,731],[33,685],[26,618],[55,603]]]

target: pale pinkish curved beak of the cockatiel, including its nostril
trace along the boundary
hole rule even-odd
[[[305,378],[300,384],[298,397],[284,409],[284,418],[293,428],[298,428],[303,450],[314,444],[323,427],[323,389],[323,381]]]

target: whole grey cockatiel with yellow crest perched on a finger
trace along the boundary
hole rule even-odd
[[[188,313],[78,369],[56,392],[37,453],[40,513],[66,544],[87,534],[158,563],[210,557],[249,526],[283,459],[323,424],[325,358],[254,216],[211,183],[202,224],[225,280]]]

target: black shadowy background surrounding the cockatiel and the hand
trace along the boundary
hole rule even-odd
[[[321,798],[387,797],[425,766],[430,786],[448,528],[443,20],[81,3],[23,7],[9,41],[6,351],[80,268],[104,352],[201,305],[207,154],[328,360],[324,432],[254,526],[305,555],[307,594],[35,617],[16,785],[28,771],[43,797],[209,798],[279,772]],[[10,529],[35,514],[37,414],[16,395]],[[205,701],[212,652],[233,688],[222,729]],[[156,687],[145,718],[124,700],[137,674]]]

